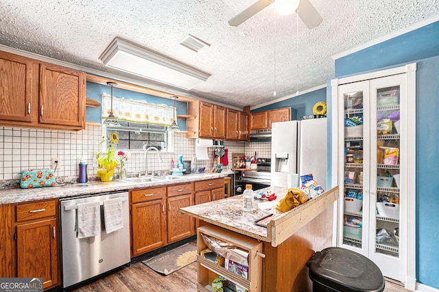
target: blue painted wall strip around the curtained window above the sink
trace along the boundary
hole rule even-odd
[[[108,85],[102,85],[93,82],[87,82],[87,97],[93,98],[96,101],[101,102],[102,94],[111,94],[111,88]],[[143,94],[140,92],[134,92],[130,90],[124,90],[121,88],[113,88],[112,95],[117,97],[123,97],[126,99],[142,100],[148,103],[161,104],[161,105],[172,105],[174,101],[168,98],[163,98],[159,96],[153,96],[150,94]],[[176,101],[176,108],[178,115],[187,114],[187,103],[182,101]],[[102,108],[99,107],[86,107],[86,120],[90,122],[101,122],[102,118]],[[186,121],[178,120],[178,127],[181,131],[186,131]]]

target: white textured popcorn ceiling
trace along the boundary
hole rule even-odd
[[[244,107],[322,85],[333,77],[332,55],[439,14],[439,0],[310,1],[323,18],[311,30],[274,5],[229,27],[255,0],[1,0],[0,44],[145,84],[100,62],[121,37],[211,74],[189,92],[169,92]],[[187,34],[211,46],[190,51],[179,44]]]

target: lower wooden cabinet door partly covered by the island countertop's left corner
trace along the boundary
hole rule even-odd
[[[179,214],[180,208],[192,205],[193,194],[167,198],[167,239],[168,243],[189,237],[195,233],[193,217]]]

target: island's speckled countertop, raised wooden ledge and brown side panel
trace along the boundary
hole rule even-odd
[[[282,187],[259,191],[268,190],[276,193],[276,202],[287,194],[287,189]],[[258,291],[312,291],[306,263],[314,252],[332,245],[333,202],[337,198],[338,187],[334,187],[271,220],[267,228],[254,224],[270,215],[263,210],[265,207],[259,206],[266,201],[255,200],[254,210],[244,212],[242,196],[185,207],[180,212],[219,226],[226,233],[232,231],[262,241],[265,258]]]

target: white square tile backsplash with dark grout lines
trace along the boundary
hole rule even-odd
[[[60,159],[60,168],[56,176],[78,176],[78,162],[81,157],[88,160],[88,175],[96,174],[97,165],[93,158],[102,139],[102,129],[99,125],[87,124],[82,131],[56,131],[43,129],[23,129],[0,127],[0,181],[19,179],[20,172],[29,168],[51,168],[51,159]],[[174,140],[175,152],[161,152],[163,162],[158,155],[148,152],[147,169],[150,171],[169,170],[171,159],[178,163],[178,155],[183,155],[183,160],[194,161],[195,165],[204,166],[207,170],[212,168],[212,151],[209,151],[209,160],[195,158],[195,139],[187,139],[185,133],[176,133]],[[228,165],[232,168],[233,152],[244,152],[248,156],[257,152],[258,157],[269,158],[271,155],[271,142],[224,142],[228,149]],[[145,153],[132,151],[132,156],[127,162],[128,173],[145,171]],[[193,165],[192,165],[193,166]]]

